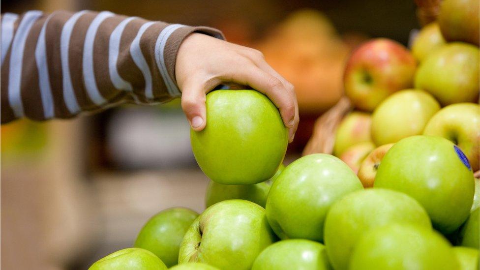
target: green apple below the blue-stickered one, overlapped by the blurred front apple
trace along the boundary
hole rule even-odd
[[[325,246],[333,268],[348,268],[352,250],[364,233],[397,222],[431,228],[421,205],[400,192],[368,188],[338,200],[325,220]]]

